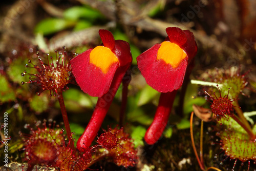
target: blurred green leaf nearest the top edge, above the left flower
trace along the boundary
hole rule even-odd
[[[88,6],[75,6],[67,9],[64,12],[64,17],[72,21],[76,21],[79,18],[86,18],[89,21],[94,21],[97,18],[103,18],[104,16],[99,11]]]

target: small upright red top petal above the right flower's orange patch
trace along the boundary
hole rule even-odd
[[[178,27],[168,27],[166,33],[172,43],[182,46],[187,42],[186,34]]]

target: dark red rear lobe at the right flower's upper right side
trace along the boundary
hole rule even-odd
[[[186,52],[188,61],[190,62],[190,60],[197,54],[197,43],[195,36],[191,31],[184,30],[184,33],[187,36],[187,42],[181,48]]]

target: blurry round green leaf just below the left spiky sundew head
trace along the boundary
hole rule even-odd
[[[49,106],[49,93],[41,93],[40,96],[35,95],[31,101],[29,102],[30,107],[38,112],[41,113],[48,109]]]

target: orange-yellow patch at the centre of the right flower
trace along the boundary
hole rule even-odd
[[[177,44],[164,41],[157,52],[157,60],[163,60],[166,64],[177,68],[187,54]]]

